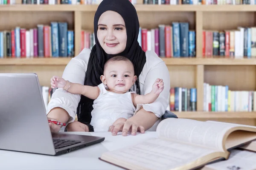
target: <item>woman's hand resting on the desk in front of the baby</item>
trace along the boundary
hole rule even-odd
[[[128,132],[131,132],[131,135],[136,135],[137,131],[140,131],[140,133],[145,133],[145,128],[143,126],[139,126],[135,122],[130,121],[129,119],[126,121],[117,120],[112,126],[109,127],[109,131],[112,132],[113,136],[115,136],[119,131],[122,131],[122,136],[127,136]]]

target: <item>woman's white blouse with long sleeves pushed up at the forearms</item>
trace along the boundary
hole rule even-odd
[[[70,82],[84,84],[84,77],[87,71],[87,63],[90,57],[90,49],[84,48],[81,53],[72,58],[64,69],[62,77]],[[157,117],[161,117],[168,107],[168,97],[170,91],[169,70],[163,60],[154,51],[146,51],[146,62],[139,76],[141,94],[148,94],[152,90],[152,85],[157,78],[163,79],[164,89],[155,102],[151,104],[138,104],[137,111],[143,107],[146,111],[153,112]],[[70,94],[62,88],[58,88],[53,94],[48,104],[47,114],[52,108],[60,107],[69,113],[73,122],[76,117],[76,108],[81,99],[79,94]]]

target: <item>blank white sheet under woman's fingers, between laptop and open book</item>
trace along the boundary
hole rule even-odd
[[[157,133],[146,131],[145,133],[137,132],[136,136],[128,133],[127,136],[122,136],[122,132],[118,132],[116,136],[112,136],[111,132],[94,132],[92,136],[105,136],[105,140],[101,144],[109,151],[123,148],[124,146],[132,146],[148,139],[156,138]]]

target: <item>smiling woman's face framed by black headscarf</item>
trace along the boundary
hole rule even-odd
[[[99,17],[97,37],[107,54],[119,54],[126,47],[125,21],[120,14],[106,11]]]

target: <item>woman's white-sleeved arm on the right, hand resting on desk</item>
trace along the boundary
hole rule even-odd
[[[147,52],[150,52],[149,55],[154,53],[152,51]],[[152,85],[157,78],[163,79],[165,88],[153,103],[138,104],[134,116],[129,118],[125,123],[116,125],[112,131],[113,135],[116,135],[119,130],[122,130],[122,134],[124,136],[126,136],[129,130],[132,130],[132,134],[134,135],[136,135],[137,130],[144,133],[144,130],[148,130],[152,127],[157,119],[165,113],[166,108],[168,107],[168,98],[170,93],[169,70],[163,61],[148,70],[147,77],[145,78],[144,93],[147,94],[151,91]],[[143,131],[141,129],[143,129]]]

